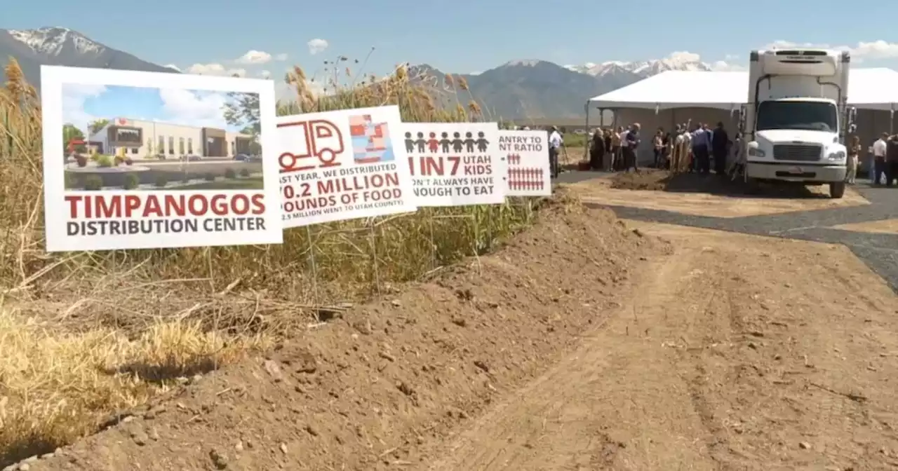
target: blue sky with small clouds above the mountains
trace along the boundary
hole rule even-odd
[[[705,12],[698,15],[700,9]],[[387,73],[403,61],[468,73],[515,59],[577,65],[655,59],[674,51],[698,54],[709,63],[740,65],[748,51],[775,40],[856,48],[855,56],[865,65],[898,68],[898,46],[883,42],[858,48],[858,42],[888,39],[888,23],[875,31],[867,13],[890,18],[890,12],[898,11],[894,2],[860,0],[850,9],[859,13],[852,21],[844,16],[846,4],[834,0],[679,6],[661,0],[347,0],[339,6],[295,0],[156,0],[142,5],[44,0],[40,8],[21,2],[5,6],[2,26],[63,26],[157,64],[183,70],[204,65],[256,76],[266,70],[278,80],[288,65],[302,65],[312,75],[326,58],[361,59],[372,47],[366,72],[374,74]],[[753,12],[752,20],[748,15]],[[628,21],[615,22],[621,18]],[[327,41],[328,48],[313,54],[307,45],[312,39]],[[256,64],[237,60],[251,50],[265,55],[257,55]],[[278,61],[278,55],[286,58]]]

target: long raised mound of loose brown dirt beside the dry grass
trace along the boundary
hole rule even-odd
[[[190,381],[43,469],[374,470],[427,447],[545,371],[667,244],[607,210],[554,206],[488,257]]]

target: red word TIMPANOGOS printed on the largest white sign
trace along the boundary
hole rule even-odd
[[[118,219],[265,213],[265,195],[66,195],[69,218]]]

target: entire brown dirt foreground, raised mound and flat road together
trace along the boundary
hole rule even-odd
[[[898,296],[852,249],[540,219],[27,468],[898,468]]]

